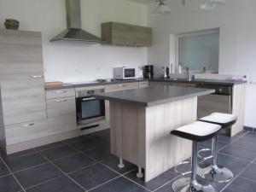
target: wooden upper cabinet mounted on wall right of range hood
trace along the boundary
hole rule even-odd
[[[112,45],[148,47],[152,43],[152,28],[117,22],[102,23],[102,40]]]

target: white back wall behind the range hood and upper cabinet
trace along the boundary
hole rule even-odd
[[[146,63],[146,48],[49,43],[66,28],[65,11],[65,0],[0,0],[0,27],[6,18],[14,18],[20,20],[20,30],[42,32],[46,81],[112,78],[114,66]],[[147,25],[147,8],[126,0],[81,0],[81,11],[82,28],[99,37],[102,22]]]

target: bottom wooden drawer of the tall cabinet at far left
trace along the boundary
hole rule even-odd
[[[27,142],[49,134],[47,120],[30,121],[23,124],[5,126],[6,144]]]

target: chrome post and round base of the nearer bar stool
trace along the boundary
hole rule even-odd
[[[196,181],[197,142],[193,142],[191,177],[182,177],[172,183],[174,192],[216,192],[212,185],[201,185]]]

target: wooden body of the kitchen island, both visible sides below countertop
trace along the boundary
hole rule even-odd
[[[143,107],[110,101],[111,153],[145,170],[145,182],[191,156],[191,142],[170,131],[192,123],[197,97]]]

